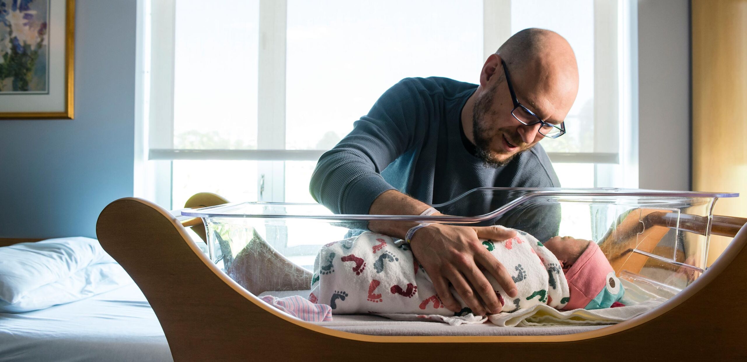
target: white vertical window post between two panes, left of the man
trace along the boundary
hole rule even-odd
[[[259,1],[257,148],[285,149],[285,45],[288,3]],[[285,162],[258,162],[260,201],[285,200]]]

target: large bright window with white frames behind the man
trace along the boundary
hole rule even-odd
[[[205,6],[211,7],[206,11]],[[404,77],[477,82],[510,34],[548,28],[580,70],[568,133],[545,139],[564,187],[637,187],[635,1],[145,1],[142,194],[313,202],[316,160]],[[219,11],[216,11],[219,10]],[[217,15],[220,14],[220,15]],[[572,19],[572,21],[568,21]]]

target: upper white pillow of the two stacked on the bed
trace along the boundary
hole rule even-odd
[[[56,238],[0,247],[0,299],[18,302],[43,285],[68,279],[91,264],[115,262],[92,238]]]

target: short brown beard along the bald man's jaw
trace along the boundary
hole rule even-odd
[[[488,89],[488,92],[483,93],[482,96],[478,97],[477,101],[474,102],[474,109],[472,110],[472,137],[474,138],[474,145],[477,148],[477,154],[475,156],[481,159],[483,165],[488,168],[500,168],[508,165],[515,156],[518,156],[520,153],[528,149],[520,150],[500,161],[496,159],[495,153],[490,150],[492,139],[495,136],[500,136],[501,133],[506,136],[506,139],[509,139],[509,142],[518,145],[518,142],[514,142],[514,140],[509,138],[509,134],[511,133],[509,133],[508,127],[499,128],[497,131],[492,132],[493,129],[486,127],[486,124],[483,123],[485,122],[486,115],[491,112],[493,98],[497,88],[498,84],[493,86],[491,89]],[[495,114],[492,114],[492,116],[495,116]]]

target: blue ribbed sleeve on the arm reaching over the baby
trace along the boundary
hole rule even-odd
[[[368,215],[376,197],[396,189],[381,171],[412,145],[416,121],[427,116],[429,102],[413,78],[388,89],[353,131],[320,157],[309,185],[314,200],[335,214]]]

